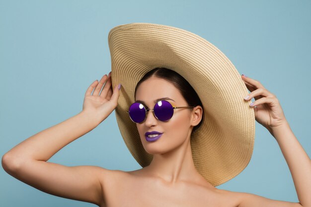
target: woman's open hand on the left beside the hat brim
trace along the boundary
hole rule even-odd
[[[103,89],[100,92],[102,87]],[[93,94],[91,94],[92,91]],[[100,124],[117,107],[118,98],[119,98],[118,85],[116,85],[116,87],[112,90],[111,72],[109,72],[108,76],[105,74],[99,80],[99,82],[95,80],[87,88],[83,101],[82,112],[88,113],[96,120],[98,124]]]

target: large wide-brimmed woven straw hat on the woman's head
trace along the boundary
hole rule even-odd
[[[153,155],[145,151],[136,124],[127,114],[134,90],[154,68],[182,75],[199,95],[204,119],[193,133],[191,149],[197,171],[213,186],[238,175],[249,163],[254,146],[255,116],[245,83],[231,61],[202,37],[176,27],[132,23],[110,30],[112,86],[122,88],[115,114],[126,146],[142,166]]]

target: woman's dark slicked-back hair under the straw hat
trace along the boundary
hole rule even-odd
[[[198,94],[195,92],[193,87],[190,85],[190,83],[179,73],[175,72],[174,70],[167,69],[167,68],[155,68],[155,69],[148,71],[142,77],[142,79],[140,79],[140,81],[137,83],[135,87],[134,97],[136,97],[136,91],[137,91],[137,88],[140,86],[140,84],[152,76],[162,78],[164,80],[167,80],[168,82],[171,82],[180,91],[181,95],[186,100],[189,106],[199,105],[203,109],[202,102]],[[203,115],[204,114],[202,114],[201,122],[197,126],[193,127],[191,133],[193,133],[195,130],[197,130],[201,126],[201,123],[203,121]]]

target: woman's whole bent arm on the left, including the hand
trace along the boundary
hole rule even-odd
[[[109,116],[119,97],[118,88],[112,94],[110,87],[111,78],[107,75],[99,84],[94,81],[85,93],[82,112],[17,144],[3,155],[4,170],[43,192],[100,206],[104,202],[101,185],[108,170],[97,166],[68,167],[47,160]]]

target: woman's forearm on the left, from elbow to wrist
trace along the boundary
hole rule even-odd
[[[29,160],[47,161],[64,146],[96,126],[93,117],[82,111],[20,142],[3,155],[2,161],[10,168],[18,168]]]

